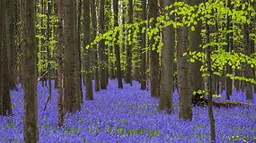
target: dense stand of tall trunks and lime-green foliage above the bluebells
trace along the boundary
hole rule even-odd
[[[119,88],[122,79],[138,80],[159,98],[159,110],[172,111],[177,79],[180,118],[189,120],[192,96],[208,95],[211,106],[220,83],[227,99],[239,85],[253,99],[254,20],[255,1],[1,1],[0,114],[12,114],[10,90],[22,79],[25,113],[35,114],[25,120],[37,121],[36,77],[49,88],[49,99],[56,81],[59,126],[64,110],[81,109],[82,80],[89,100],[93,83],[99,91],[109,77]]]

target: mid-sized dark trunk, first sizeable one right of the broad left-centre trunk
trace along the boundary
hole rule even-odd
[[[85,86],[86,86],[86,99],[93,100],[93,84],[92,84],[92,55],[91,48],[85,46],[91,43],[91,16],[90,16],[90,0],[84,0],[84,52],[85,52]]]

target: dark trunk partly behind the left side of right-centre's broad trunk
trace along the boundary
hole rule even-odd
[[[149,18],[156,18],[158,16],[157,0],[149,0]],[[152,28],[155,27],[156,20],[150,23]],[[150,44],[150,83],[151,83],[151,97],[159,97],[159,54],[153,49],[154,38],[149,41]]]

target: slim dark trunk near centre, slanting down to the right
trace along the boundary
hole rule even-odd
[[[113,0],[113,11],[114,11],[114,27],[119,26],[119,0]],[[119,31],[116,34],[116,38],[119,38]],[[117,77],[119,88],[123,88],[122,76],[121,76],[121,63],[120,63],[120,47],[118,43],[115,43],[115,55],[116,55],[116,65],[117,65]]]

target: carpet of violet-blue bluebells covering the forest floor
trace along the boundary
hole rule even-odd
[[[0,117],[0,142],[22,142],[22,86],[12,91],[13,116]],[[82,110],[66,115],[65,127],[57,127],[57,89],[46,111],[48,89],[38,85],[39,128],[41,143],[131,142],[131,143],[204,143],[209,140],[207,107],[193,107],[193,121],[179,119],[177,92],[174,93],[173,114],[158,112],[158,99],[150,91],[124,84],[117,88],[117,80],[110,80],[107,90],[94,93],[93,101],[84,100]],[[84,91],[84,87],[83,87]],[[216,101],[225,101],[225,93]],[[256,105],[245,100],[245,94],[235,92],[231,101]],[[256,107],[234,106],[214,108],[216,142],[256,142]]]

